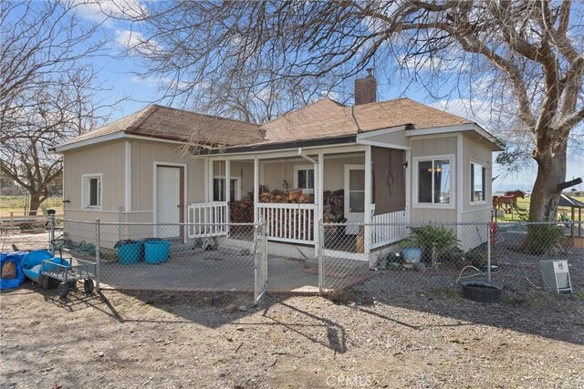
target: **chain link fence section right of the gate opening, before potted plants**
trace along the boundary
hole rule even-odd
[[[368,251],[376,235],[404,230]],[[554,290],[540,261],[567,261],[572,290],[584,289],[584,230],[567,223],[321,224],[320,292],[382,275],[393,288],[419,292],[492,281],[526,296]],[[556,292],[554,290],[554,292]]]

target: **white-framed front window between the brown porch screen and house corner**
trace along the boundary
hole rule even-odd
[[[434,206],[451,206],[452,157],[417,159],[417,203]]]

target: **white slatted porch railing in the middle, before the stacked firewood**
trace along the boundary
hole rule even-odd
[[[314,243],[315,204],[276,204],[260,202],[256,205],[259,217],[266,221],[269,241]]]

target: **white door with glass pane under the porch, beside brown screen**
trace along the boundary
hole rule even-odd
[[[365,221],[365,165],[345,165],[345,218],[347,223]],[[359,228],[347,226],[345,233],[359,233]]]

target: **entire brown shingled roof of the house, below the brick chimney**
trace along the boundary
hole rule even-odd
[[[72,138],[59,147],[118,132],[192,141],[210,147],[228,147],[354,135],[402,125],[419,129],[462,124],[473,122],[410,98],[355,107],[323,98],[261,126],[153,104],[104,127]],[[262,132],[266,133],[265,138],[262,137]]]

